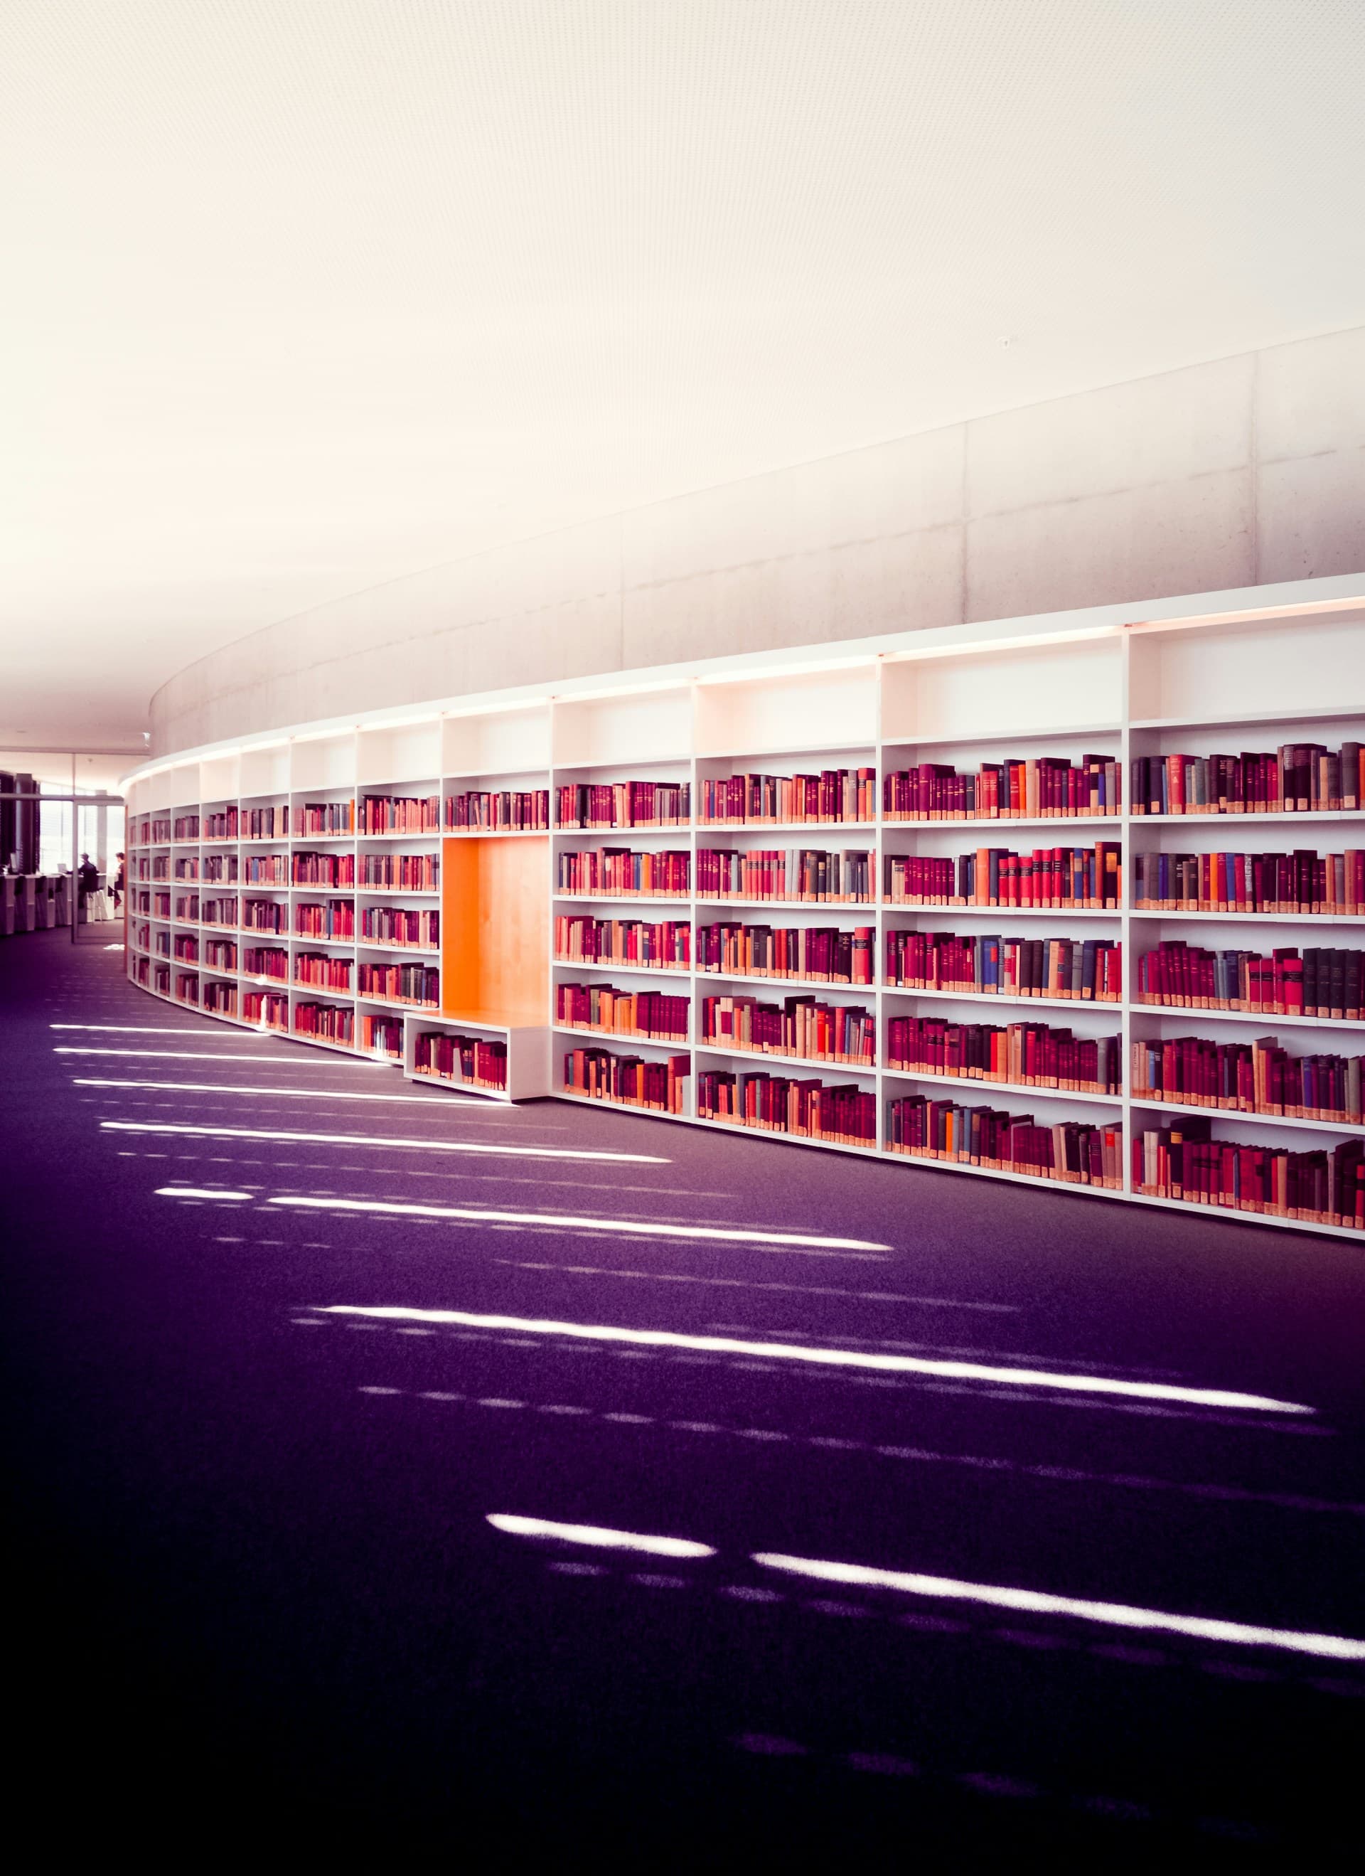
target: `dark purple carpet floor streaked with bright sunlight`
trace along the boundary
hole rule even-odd
[[[452,1099],[101,936],[0,946],[19,1790],[71,1844],[1358,1842],[1365,1244]]]

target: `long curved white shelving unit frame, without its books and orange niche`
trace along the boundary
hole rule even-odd
[[[1219,709],[1211,707],[1217,700]],[[197,855],[199,880],[142,880],[141,867],[129,869],[135,889],[148,893],[148,912],[133,914],[129,925],[129,976],[137,981],[150,957],[171,966],[171,983],[180,972],[174,955],[158,953],[158,934],[199,932],[195,974],[201,985],[234,985],[240,996],[255,987],[240,968],[242,953],[255,944],[279,944],[291,957],[291,981],[268,983],[289,998],[291,1034],[302,1000],[349,1007],[356,1024],[354,1052],[360,1049],[364,1013],[384,1013],[401,1022],[401,1067],[414,1079],[431,1081],[414,1069],[416,1034],[426,1028],[450,1034],[486,1034],[508,1043],[506,1099],[559,1094],[564,1052],[576,1047],[602,1047],[613,1052],[662,1060],[686,1054],[690,1079],[681,1118],[696,1126],[722,1126],[744,1131],[733,1122],[696,1116],[698,1073],[707,1067],[748,1073],[769,1069],[819,1079],[827,1086],[857,1086],[874,1094],[876,1142],[861,1148],[829,1141],[797,1139],[797,1144],[823,1144],[829,1150],[874,1156],[892,1163],[934,1165],[938,1169],[979,1172],[1018,1184],[1041,1184],[1029,1174],[994,1172],[956,1161],[928,1161],[892,1154],[887,1146],[887,1103],[906,1092],[924,1092],[939,1099],[960,1097],[969,1105],[1003,1107],[1031,1114],[1041,1126],[1058,1120],[1093,1120],[1097,1126],[1123,1127],[1123,1191],[1065,1184],[1067,1191],[1123,1197],[1131,1203],[1174,1206],[1183,1212],[1232,1216],[1239,1221],[1288,1225],[1303,1231],[1333,1231],[1361,1236],[1348,1227],[1324,1227],[1266,1214],[1234,1212],[1222,1206],[1191,1206],[1183,1201],[1149,1199],[1132,1189],[1132,1137],[1153,1126],[1196,1114],[1213,1124],[1215,1139],[1245,1142],[1282,1142],[1292,1150],[1331,1146],[1358,1139],[1361,1126],[1299,1122],[1266,1114],[1241,1114],[1183,1107],[1178,1101],[1134,1096],[1129,1088],[1131,1045],[1134,1039],[1208,1034],[1213,1039],[1251,1039],[1286,1032],[1290,1045],[1307,1052],[1309,1034],[1322,1049],[1365,1054],[1365,1021],[1328,1022],[1316,1019],[1271,1017],[1245,1011],[1159,1007],[1134,1000],[1138,953],[1161,940],[1187,938],[1209,947],[1266,949],[1292,946],[1346,946],[1365,949],[1365,915],[1307,917],[1290,914],[1226,912],[1146,912],[1131,904],[1134,852],[1208,852],[1219,848],[1266,848],[1284,852],[1294,846],[1314,850],[1365,846],[1365,814],[1132,814],[1129,779],[1134,756],[1170,752],[1230,752],[1275,749],[1290,741],[1365,741],[1365,576],[1299,582],[1292,587],[1262,587],[1196,600],[1170,600],[1118,608],[1020,619],[999,625],[971,625],[932,632],[908,630],[898,636],[846,645],[788,649],[771,655],[699,660],[656,672],[613,673],[562,683],[546,690],[499,692],[486,698],[437,700],[426,707],[375,711],[356,722],[300,724],[289,734],[246,739],[242,745],[216,745],[186,752],[174,762],[148,764],[128,782],[129,855],[174,859]],[[951,764],[975,769],[982,760],[1101,754],[1118,764],[1123,786],[1121,812],[1106,816],[1044,816],[1031,820],[908,822],[879,816],[876,822],[797,822],[797,824],[709,824],[684,827],[617,829],[452,829],[452,797],[465,792],[548,790],[549,809],[557,790],[568,782],[666,780],[688,782],[694,810],[699,782],[746,769],[793,775],[821,767],[872,767],[881,779],[917,762]],[[306,803],[354,799],[364,794],[439,795],[441,833],[364,835],[298,831]],[[289,807],[289,837],[236,840],[208,837],[208,816],[236,807]],[[152,822],[201,816],[197,842],[152,840],[167,835]],[[246,829],[246,822],[242,822]],[[1254,833],[1252,833],[1254,827]],[[146,831],[148,839],[142,839]],[[540,839],[548,854],[546,891],[551,932],[555,914],[585,917],[641,919],[645,923],[682,921],[692,930],[688,968],[651,968],[641,964],[585,964],[549,959],[549,1007],[544,1024],[523,1021],[523,1013],[497,1021],[497,1011],[414,1009],[384,1004],[358,992],[358,966],[366,957],[403,957],[433,962],[412,947],[373,944],[360,936],[366,902],[437,908],[439,893],[401,887],[296,885],[292,855],[315,850],[351,854],[441,852],[442,840],[525,840]],[[844,900],[742,900],[699,897],[696,891],[698,852],[703,846],[731,850],[814,846],[836,852],[870,852],[876,891],[881,893],[885,859],[892,854],[949,857],[977,846],[1093,846],[1099,840],[1121,844],[1125,897],[1114,908],[999,908],[977,904],[870,904]],[[688,854],[690,889],[669,895],[583,895],[557,885],[557,859],[564,850],[596,846],[636,852],[673,850]],[[240,874],[253,854],[287,855],[285,885],[253,885]],[[210,859],[238,861],[234,882],[206,878]],[[289,908],[289,930],[270,934],[232,930],[197,921],[158,915],[156,893],[197,891],[202,899],[266,897]],[[292,930],[292,906],[347,899],[356,906],[356,936],[315,938]],[[883,976],[885,934],[894,929],[921,929],[964,934],[1112,938],[1123,946],[1123,998],[1119,1002],[1076,1002],[1044,996],[971,996],[962,991],[915,991],[885,985],[832,983],[742,976],[698,970],[696,934],[716,921],[832,925],[842,930],[862,927],[874,940],[874,974]],[[133,927],[146,929],[146,946],[133,940]],[[238,970],[208,966],[206,936],[231,938],[238,946]],[[351,961],[352,989],[332,992],[292,981],[292,961],[300,951],[322,951]],[[551,944],[553,951],[553,944]],[[561,983],[611,983],[621,989],[682,994],[688,998],[686,1043],[645,1036],[621,1036],[561,1026],[555,1021],[555,987]],[[150,983],[148,983],[150,987]],[[754,994],[780,1002],[789,994],[816,994],[823,1002],[861,1006],[874,1011],[879,1066],[808,1062],[801,1058],[728,1049],[701,1036],[701,998]],[[156,994],[156,992],[154,992]],[[221,992],[216,992],[221,994]],[[1076,1036],[1118,1036],[1121,1039],[1123,1092],[1084,1094],[1058,1088],[1016,1086],[992,1081],[892,1069],[885,1062],[887,1021],[892,1015],[951,1015],[954,1021],[996,1022],[1041,1019],[1071,1028]],[[240,1021],[240,1017],[238,1017]],[[471,1084],[444,1082],[471,1092]],[[472,1092],[489,1092],[474,1088]],[[649,1109],[628,1109],[651,1112]],[[793,1139],[763,1133],[765,1139]],[[1044,1182],[1054,1184],[1054,1182]],[[1056,1186],[1054,1186],[1056,1189]]]

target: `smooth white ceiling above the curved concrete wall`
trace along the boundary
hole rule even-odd
[[[1358,325],[1361,0],[4,0],[0,741],[660,495]],[[1003,343],[1009,340],[1009,343]]]

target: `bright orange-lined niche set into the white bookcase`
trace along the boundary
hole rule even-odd
[[[486,1022],[549,1021],[549,837],[441,848],[441,1009]]]

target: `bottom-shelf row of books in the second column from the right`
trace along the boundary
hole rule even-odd
[[[1031,1114],[908,1094],[887,1101],[887,1152],[1022,1172],[1067,1186],[1123,1189],[1123,1127],[1118,1122],[1039,1126]]]

